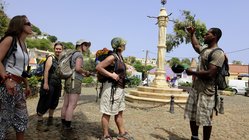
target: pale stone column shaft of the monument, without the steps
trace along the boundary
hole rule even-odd
[[[158,53],[157,53],[157,69],[155,72],[155,79],[151,84],[152,87],[157,88],[169,88],[168,83],[165,79],[165,53],[166,53],[166,27],[168,23],[168,15],[166,9],[162,7],[160,9],[160,14],[157,17],[157,23],[159,27],[158,31]]]

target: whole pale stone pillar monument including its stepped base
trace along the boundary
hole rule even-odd
[[[166,0],[161,0],[165,5]],[[182,89],[170,88],[165,78],[165,53],[166,53],[166,26],[168,23],[168,16],[164,6],[160,9],[160,14],[157,18],[159,27],[158,31],[158,54],[157,54],[157,69],[155,72],[155,79],[150,86],[138,86],[135,90],[130,90],[125,95],[125,100],[129,102],[138,103],[170,103],[171,97],[174,97],[175,103],[186,103],[188,94]],[[148,16],[150,17],[150,16]]]

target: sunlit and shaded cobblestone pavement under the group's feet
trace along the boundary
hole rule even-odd
[[[243,95],[223,96],[224,114],[214,117],[211,140],[248,140],[249,139],[249,97]],[[84,88],[78,106],[74,111],[72,125],[79,140],[97,140],[101,137],[101,125],[96,91]],[[61,139],[60,110],[63,99],[60,99],[54,115],[54,125],[48,132],[36,130],[36,105],[38,97],[27,100],[29,110],[29,126],[25,133],[27,140],[59,140]],[[127,131],[136,140],[188,140],[191,136],[188,120],[183,119],[184,105],[175,105],[174,113],[169,112],[166,104],[137,104],[127,102],[124,122]],[[47,114],[45,115],[47,117]],[[47,118],[45,118],[47,119]],[[117,128],[110,122],[111,135],[116,139]],[[199,130],[202,137],[202,127]],[[8,131],[8,140],[15,139],[12,129]]]

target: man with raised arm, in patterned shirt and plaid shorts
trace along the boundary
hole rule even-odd
[[[223,51],[217,50],[208,62],[209,53],[218,47],[218,41],[222,35],[219,28],[211,28],[204,36],[204,43],[207,47],[202,47],[195,36],[195,28],[188,27],[191,43],[194,50],[200,54],[197,70],[187,69],[186,73],[192,75],[193,88],[189,93],[185,107],[184,118],[190,120],[192,132],[191,140],[198,140],[199,126],[203,126],[203,140],[209,140],[212,131],[212,115],[215,105],[215,77],[218,69],[223,65],[225,55]]]

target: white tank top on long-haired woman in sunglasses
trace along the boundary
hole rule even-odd
[[[21,76],[23,70],[28,66],[29,57],[25,51],[22,51],[22,48],[18,43],[18,41],[16,42],[16,44],[17,44],[17,51],[14,52],[12,55],[10,55],[9,59],[6,61],[5,69],[6,72],[9,72],[17,76]]]

